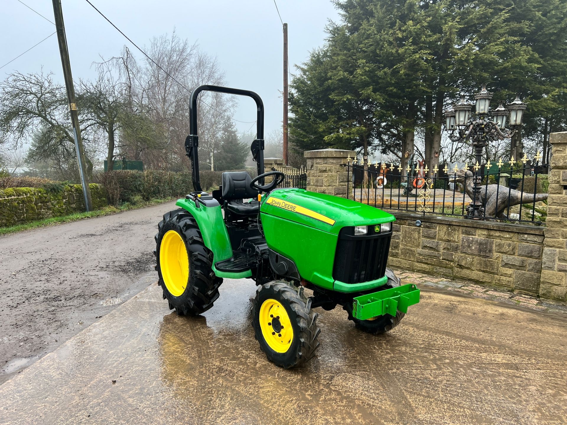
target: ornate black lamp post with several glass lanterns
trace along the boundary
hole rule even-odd
[[[504,108],[502,103],[490,112],[492,93],[486,90],[486,85],[475,94],[475,114],[471,117],[472,105],[467,103],[464,96],[452,108],[445,111],[445,128],[448,137],[453,142],[470,140],[475,155],[476,164],[473,167],[473,199],[467,207],[467,215],[473,219],[484,217],[484,207],[481,202],[481,189],[483,177],[479,170],[483,163],[483,150],[489,142],[498,139],[510,139],[522,125],[522,118],[526,109],[519,96]],[[506,128],[506,118],[509,117],[509,128]]]

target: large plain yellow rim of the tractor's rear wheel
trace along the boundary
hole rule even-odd
[[[189,257],[181,235],[175,230],[167,231],[159,246],[159,267],[163,282],[173,296],[180,296],[189,280]]]

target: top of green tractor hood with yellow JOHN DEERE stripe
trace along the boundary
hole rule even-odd
[[[395,220],[393,215],[360,202],[297,188],[273,190],[263,197],[260,211],[336,235],[345,226]]]

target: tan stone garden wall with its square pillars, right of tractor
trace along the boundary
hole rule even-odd
[[[389,263],[405,270],[567,301],[567,132],[550,137],[547,226],[412,215],[392,210]],[[307,190],[346,197],[353,151],[304,152]],[[539,186],[539,182],[538,182]],[[416,226],[416,220],[421,226]]]

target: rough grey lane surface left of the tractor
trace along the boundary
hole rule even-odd
[[[155,281],[174,202],[0,236],[0,384]]]

